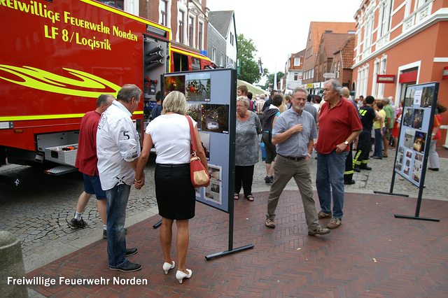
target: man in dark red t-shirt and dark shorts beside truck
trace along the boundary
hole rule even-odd
[[[97,99],[96,110],[85,113],[81,120],[75,167],[83,173],[84,191],[78,198],[75,217],[69,222],[71,227],[84,228],[87,225],[82,217],[83,211],[92,194],[95,194],[99,217],[103,222],[103,238],[106,238],[107,200],[97,169],[97,128],[101,114],[111,106],[114,100],[115,98],[110,94],[101,94]]]

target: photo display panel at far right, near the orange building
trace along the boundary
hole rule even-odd
[[[423,187],[439,83],[407,86],[395,172]]]

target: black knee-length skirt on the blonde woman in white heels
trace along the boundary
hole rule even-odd
[[[190,180],[190,164],[157,164],[155,197],[159,215],[170,220],[195,217],[195,188]]]

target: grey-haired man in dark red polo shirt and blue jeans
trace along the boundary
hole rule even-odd
[[[358,111],[353,104],[341,97],[342,85],[338,80],[328,80],[323,87],[323,100],[318,118],[316,142],[317,173],[316,188],[321,212],[318,218],[332,218],[329,229],[341,225],[344,207],[345,159],[349,144],[363,129]],[[331,211],[331,197],[333,208]]]

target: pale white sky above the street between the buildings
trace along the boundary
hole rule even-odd
[[[237,34],[251,38],[270,73],[283,71],[288,55],[304,50],[309,23],[355,22],[361,0],[207,0],[211,11],[234,10]]]

